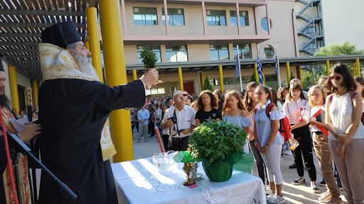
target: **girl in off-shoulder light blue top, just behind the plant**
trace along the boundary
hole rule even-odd
[[[223,120],[226,123],[232,123],[242,128],[247,134],[249,127],[252,126],[252,122],[247,117],[247,111],[245,111],[242,99],[237,91],[228,91],[225,95],[225,104],[223,108]],[[249,141],[245,142],[243,147],[244,152],[249,152]]]

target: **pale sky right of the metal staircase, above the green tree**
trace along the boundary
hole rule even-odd
[[[326,45],[348,41],[364,49],[363,0],[322,0]],[[339,13],[339,15],[338,15]]]

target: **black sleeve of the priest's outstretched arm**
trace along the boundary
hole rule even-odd
[[[140,108],[144,103],[144,83],[136,80],[113,88],[105,85],[95,106],[99,111],[114,111],[121,108]]]

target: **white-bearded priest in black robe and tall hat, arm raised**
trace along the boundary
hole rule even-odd
[[[112,88],[97,81],[75,23],[46,28],[42,40],[41,162],[77,194],[75,203],[117,203],[111,165],[102,157],[102,130],[111,111],[144,105],[145,87],[158,80],[158,72],[151,69],[140,80]],[[42,174],[39,203],[73,203],[68,198]]]

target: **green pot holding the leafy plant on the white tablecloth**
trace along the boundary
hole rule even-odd
[[[228,181],[232,175],[232,166],[228,162],[216,161],[216,162],[202,162],[203,170],[208,176],[208,179],[213,182]]]

